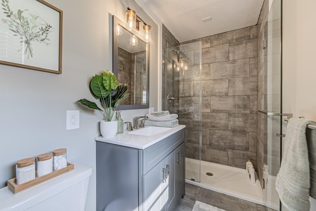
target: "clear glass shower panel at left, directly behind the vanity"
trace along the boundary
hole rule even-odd
[[[185,128],[186,179],[200,181],[201,43],[191,42],[163,52],[163,110],[179,115]]]

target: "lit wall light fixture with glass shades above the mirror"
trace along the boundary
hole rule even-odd
[[[136,15],[136,12],[129,7],[127,7],[126,10],[126,23],[128,25],[128,29],[131,31],[132,29],[135,29],[136,31],[139,31],[139,25],[140,23],[143,24],[143,36],[144,40],[146,42],[150,42],[151,34],[150,29],[152,28],[150,25],[146,24],[138,15]]]

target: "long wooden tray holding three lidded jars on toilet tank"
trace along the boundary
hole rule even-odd
[[[40,177],[37,177],[35,179],[32,179],[31,181],[28,181],[28,182],[25,182],[25,183],[22,183],[20,185],[17,185],[16,184],[16,177],[12,178],[12,179],[9,179],[8,180],[8,188],[14,193],[18,193],[20,191],[23,191],[25,189],[28,189],[30,187],[33,187],[34,185],[37,185],[37,184],[40,184],[44,181],[47,181],[51,178],[54,178],[58,175],[61,175],[63,173],[66,173],[70,170],[73,170],[75,169],[75,166],[74,164],[70,164],[70,163],[67,163],[67,167],[63,168],[63,169],[59,169],[59,170],[55,170],[51,173],[48,173],[46,175],[43,175],[43,176],[40,176]]]

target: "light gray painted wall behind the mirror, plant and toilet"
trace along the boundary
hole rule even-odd
[[[0,65],[0,187],[15,177],[16,161],[65,147],[69,162],[93,168],[86,208],[93,211],[96,210],[94,137],[100,135],[99,122],[103,118],[99,112],[83,108],[76,101],[95,100],[88,88],[91,77],[112,69],[112,15],[124,20],[129,6],[152,26],[150,106],[157,109],[159,29],[134,0],[47,2],[64,12],[63,73]],[[80,110],[79,129],[66,130],[67,110]],[[147,113],[148,109],[123,111],[122,119],[131,121],[132,117]]]

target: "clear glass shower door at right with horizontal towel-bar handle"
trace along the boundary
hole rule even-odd
[[[281,0],[269,5],[264,28],[265,116],[263,199],[267,207],[279,210],[275,189],[281,161],[282,96],[281,96]]]

